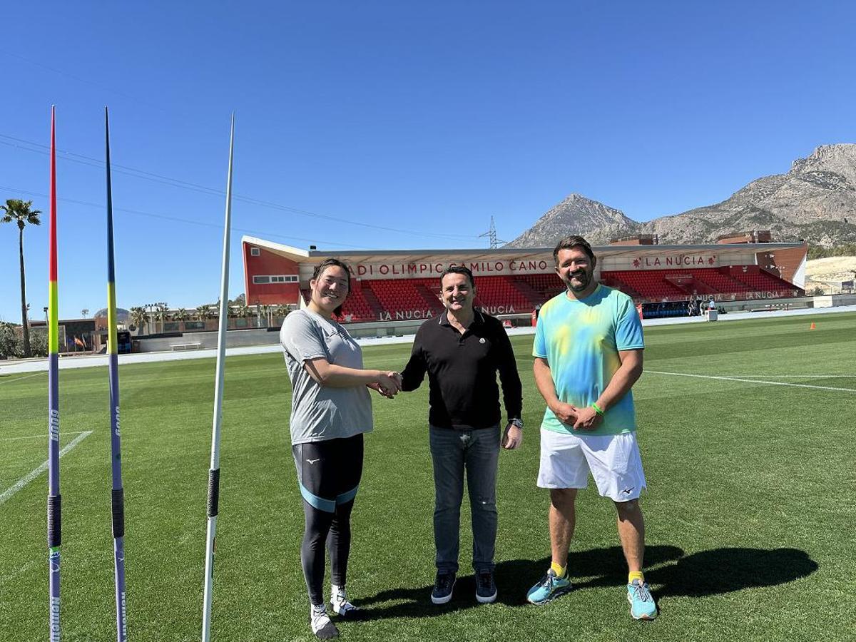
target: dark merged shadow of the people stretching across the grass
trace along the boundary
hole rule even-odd
[[[645,580],[655,586],[655,598],[704,597],[757,586],[776,586],[810,575],[817,562],[803,550],[740,549],[704,550],[684,556],[677,546],[645,547]],[[550,558],[509,560],[496,564],[497,603],[506,606],[526,604],[526,591],[550,567]],[[603,586],[621,586],[627,577],[627,565],[621,547],[572,551],[568,568],[574,591]],[[585,578],[589,578],[585,580]],[[478,607],[475,577],[459,575],[455,594],[446,604],[431,603],[431,585],[407,586],[380,591],[360,599],[365,619],[390,617],[431,617]],[[391,604],[388,604],[391,603]]]

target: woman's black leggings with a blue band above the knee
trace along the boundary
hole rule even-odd
[[[363,436],[292,446],[306,531],[300,563],[313,604],[324,603],[324,545],[332,583],[345,586],[351,550],[351,511],[363,472]]]

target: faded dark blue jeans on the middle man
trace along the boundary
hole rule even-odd
[[[496,547],[496,464],[499,426],[479,430],[430,427],[434,464],[437,570],[458,572],[464,472],[473,518],[473,569],[492,571]]]

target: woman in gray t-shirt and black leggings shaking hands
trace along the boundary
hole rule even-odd
[[[350,269],[326,259],[309,282],[311,300],[282,322],[291,401],[291,449],[306,530],[300,562],[309,591],[312,633],[338,634],[324,603],[324,543],[330,548],[330,602],[338,615],[358,610],[348,601],[345,580],[351,546],[351,510],[363,469],[363,433],[372,431],[367,388],[384,396],[401,389],[397,372],[366,370],[360,346],[333,319],[350,292]]]

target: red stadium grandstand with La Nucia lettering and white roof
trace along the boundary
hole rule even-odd
[[[302,307],[312,270],[335,257],[354,270],[342,321],[410,321],[437,316],[439,276],[450,265],[473,270],[476,306],[501,318],[526,318],[564,289],[553,248],[470,250],[302,250],[244,236],[247,305]],[[788,300],[805,296],[806,245],[774,243],[749,232],[710,245],[659,245],[636,236],[594,247],[595,276],[630,295],[646,318],[686,315],[699,301]]]

